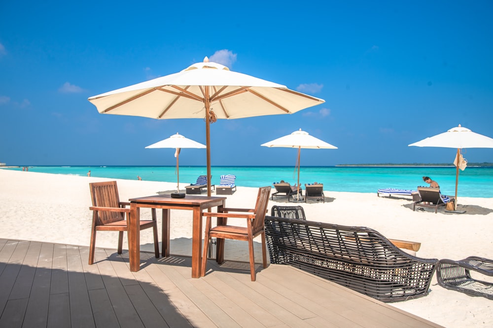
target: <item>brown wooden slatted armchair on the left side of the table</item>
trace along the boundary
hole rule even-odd
[[[118,254],[122,253],[123,232],[128,231],[128,220],[125,220],[125,213],[130,215],[128,202],[120,202],[116,181],[93,182],[89,183],[91,189],[91,199],[93,206],[93,222],[91,230],[91,243],[89,245],[89,264],[94,263],[94,248],[96,247],[97,231],[118,231]],[[128,217],[127,217],[128,218]],[[141,220],[140,230],[152,228],[154,230],[154,252],[159,258],[159,243],[157,239],[156,212],[153,209],[152,220]]]

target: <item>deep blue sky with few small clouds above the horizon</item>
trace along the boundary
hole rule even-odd
[[[73,2],[73,3],[72,3]],[[179,3],[178,3],[179,2]],[[0,162],[174,165],[144,149],[200,119],[102,115],[87,98],[176,73],[205,56],[325,100],[292,115],[218,120],[211,163],[295,164],[260,144],[299,128],[339,149],[301,165],[452,162],[408,144],[451,127],[493,137],[492,1],[2,1]],[[493,149],[466,149],[493,162]],[[183,149],[181,165],[205,165]]]

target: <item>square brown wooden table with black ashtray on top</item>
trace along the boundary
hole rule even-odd
[[[140,243],[140,208],[153,209],[152,215],[155,216],[155,209],[163,209],[162,227],[162,255],[170,255],[170,209],[189,209],[193,210],[192,223],[192,278],[200,277],[201,255],[202,255],[202,211],[204,209],[217,206],[217,212],[222,212],[226,197],[208,197],[186,195],[185,198],[171,198],[170,195],[156,195],[139,198],[131,198],[128,249],[130,271],[139,271],[141,257]]]

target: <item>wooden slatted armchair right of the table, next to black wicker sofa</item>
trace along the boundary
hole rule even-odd
[[[255,261],[253,257],[253,239],[262,236],[262,264],[267,268],[267,251],[265,246],[264,219],[267,212],[267,204],[271,187],[261,187],[258,189],[257,202],[255,209],[229,209],[224,208],[223,213],[202,213],[206,217],[206,234],[204,237],[204,254],[202,257],[201,275],[206,275],[207,250],[212,237],[217,238],[216,261],[221,264],[224,261],[224,239],[246,240],[250,255],[250,277],[255,281]],[[246,213],[230,213],[246,212]],[[217,217],[217,226],[211,227],[211,218]],[[227,225],[227,218],[246,219],[246,227]]]

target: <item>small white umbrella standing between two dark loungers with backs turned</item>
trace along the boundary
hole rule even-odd
[[[297,183],[297,195],[299,199],[300,194],[300,153],[302,148],[306,149],[337,149],[337,147],[326,143],[314,136],[311,136],[308,132],[302,131],[299,129],[298,131],[294,131],[287,136],[274,139],[272,141],[266,142],[260,146],[265,147],[284,147],[284,148],[297,148],[298,149],[298,158],[296,160],[296,166],[298,167],[298,183]]]

